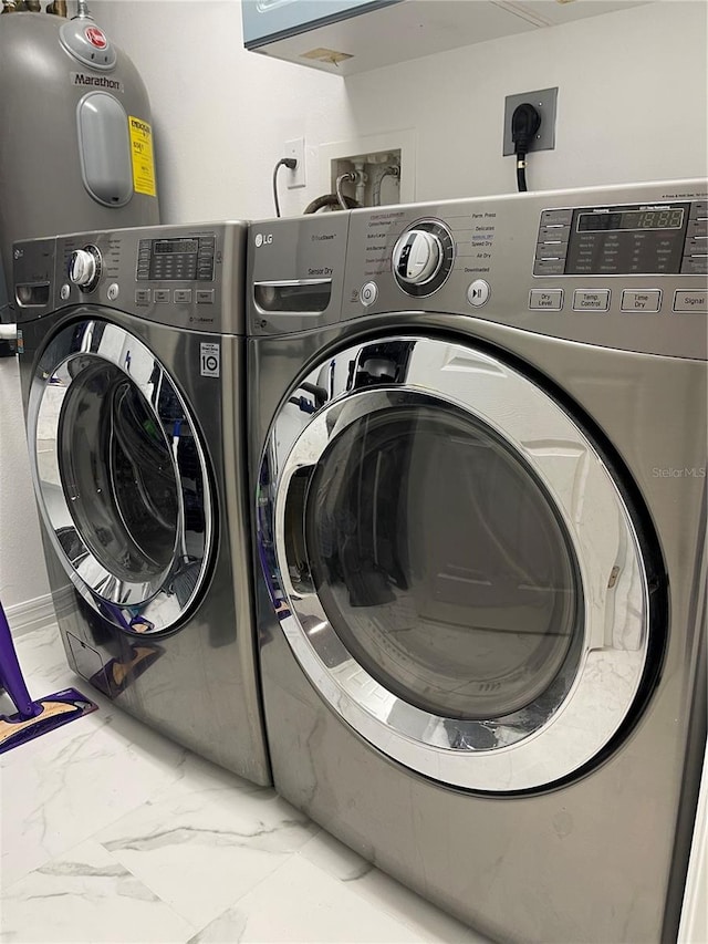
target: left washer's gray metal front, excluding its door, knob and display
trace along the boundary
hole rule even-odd
[[[216,311],[208,326],[189,322],[200,310],[194,302],[177,304],[174,300],[176,288],[195,289],[202,284],[197,281],[188,286],[150,283],[150,291],[169,290],[169,302],[136,303],[139,240],[183,239],[205,231],[216,232],[217,251],[221,253],[216,259],[212,283]],[[76,664],[71,634],[98,654],[103,667],[96,672],[107,684],[115,683],[110,694],[117,705],[210,760],[266,785],[270,782],[270,768],[256,670],[242,435],[246,341],[237,333],[243,332],[244,235],[246,225],[241,222],[80,234],[24,242],[15,247],[14,262],[15,290],[22,288],[20,294],[28,300],[18,305],[24,409],[38,355],[51,343],[52,333],[74,321],[105,319],[143,341],[169,371],[198,425],[212,477],[215,543],[210,572],[186,619],[167,633],[136,637],[98,616],[69,582],[42,526],[67,658]],[[72,287],[62,299],[64,252],[87,243],[97,246],[107,259],[98,284],[91,293]],[[55,247],[60,257],[56,263]],[[119,287],[117,299],[108,295],[111,284]],[[190,324],[200,330],[185,330]],[[205,344],[218,351],[218,372],[208,365],[205,370]],[[136,639],[145,652],[134,650]],[[88,662],[82,665],[87,672]],[[84,671],[81,665],[79,670]],[[117,676],[112,676],[114,670]],[[128,684],[117,684],[126,673]]]

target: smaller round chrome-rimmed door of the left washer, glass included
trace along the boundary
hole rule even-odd
[[[75,321],[32,378],[35,491],[82,597],[123,630],[177,624],[205,580],[212,540],[198,430],[166,369],[116,324]]]

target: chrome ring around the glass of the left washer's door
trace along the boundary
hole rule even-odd
[[[97,329],[101,329],[101,332]],[[111,344],[107,350],[97,350],[96,335],[105,338],[111,335]],[[71,338],[81,336],[80,346],[71,347]],[[71,349],[71,350],[66,350]],[[129,356],[125,356],[125,352]],[[54,354],[59,352],[59,357]],[[49,465],[49,471],[54,483],[61,483],[61,470],[59,459],[59,429],[60,417],[63,409],[59,411],[55,418],[50,416],[52,408],[48,405],[46,393],[52,383],[61,385],[64,391],[71,388],[72,384],[81,376],[81,371],[72,375],[72,365],[79,359],[91,359],[95,362],[106,362],[117,367],[125,374],[132,384],[140,391],[143,403],[156,423],[164,428],[163,424],[168,422],[167,417],[160,416],[159,405],[150,401],[140,385],[131,373],[133,362],[152,362],[159,371],[158,381],[155,383],[156,392],[167,387],[169,393],[179,404],[184,416],[190,422],[194,430],[194,440],[197,449],[201,483],[204,488],[204,540],[200,541],[196,552],[194,547],[189,556],[185,549],[185,490],[183,479],[188,477],[188,470],[184,468],[184,460],[178,452],[170,452],[175,475],[175,487],[178,501],[177,533],[173,560],[154,579],[126,580],[118,579],[98,559],[96,553],[84,540],[83,535],[74,527],[72,539],[75,542],[75,553],[72,550],[70,558],[59,540],[59,529],[65,528],[66,522],[74,522],[70,504],[64,488],[53,489],[51,498],[48,494],[48,481],[40,473],[40,459],[38,454],[38,429],[44,419],[53,430],[53,446],[44,455],[44,464]],[[46,425],[46,423],[44,425]],[[208,571],[208,562],[214,540],[212,527],[212,498],[210,477],[208,474],[207,459],[197,435],[198,430],[192,418],[192,412],[187,406],[177,385],[173,381],[166,367],[159,362],[147,345],[114,322],[103,319],[84,319],[65,324],[54,333],[40,356],[38,367],[32,378],[28,409],[28,438],[30,444],[30,457],[32,478],[38,498],[38,505],[46,530],[52,540],[54,550],[72,583],[81,595],[102,616],[123,630],[139,634],[153,633],[167,630],[178,623],[184,614],[192,606]],[[187,568],[189,573],[187,574]],[[177,599],[175,592],[176,583],[183,580],[181,592]]]

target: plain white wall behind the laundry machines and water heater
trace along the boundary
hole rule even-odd
[[[166,222],[273,216],[273,165],[283,142],[301,136],[309,183],[281,187],[284,215],[329,190],[321,145],[397,128],[417,141],[417,199],[512,190],[513,158],[501,156],[503,98],[552,85],[556,148],[531,156],[531,189],[707,172],[704,0],[663,0],[347,80],[247,53],[237,0],[91,6],[147,85]],[[12,362],[0,361],[8,605],[46,588],[20,414]]]

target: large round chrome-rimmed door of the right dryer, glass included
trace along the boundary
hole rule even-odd
[[[272,429],[259,540],[312,684],[427,777],[545,786],[632,710],[648,641],[633,518],[577,423],[496,356],[397,336],[329,359]]]

